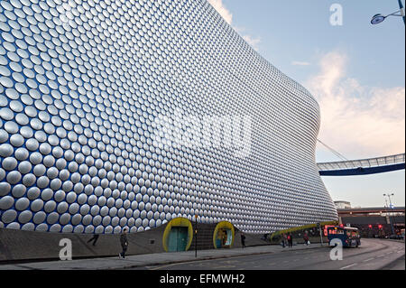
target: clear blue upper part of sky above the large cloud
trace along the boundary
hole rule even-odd
[[[404,24],[390,17],[371,25],[372,15],[398,10],[396,0],[279,1],[223,0],[241,34],[259,38],[259,52],[292,78],[304,82],[315,65],[298,69],[291,61],[313,63],[320,53],[342,49],[352,59],[348,75],[364,85],[404,86]],[[332,4],[343,7],[343,25],[329,23]],[[366,71],[377,70],[377,73]],[[388,73],[388,70],[390,72]],[[381,72],[379,72],[381,71]]]

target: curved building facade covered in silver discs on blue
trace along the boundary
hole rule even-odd
[[[0,228],[336,220],[318,103],[206,0],[0,2]]]

